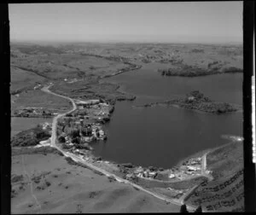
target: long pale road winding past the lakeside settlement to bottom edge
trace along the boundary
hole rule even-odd
[[[73,101],[72,98],[70,97],[67,97],[67,96],[61,96],[61,95],[58,95],[58,94],[55,94],[54,92],[50,91],[49,88],[52,86],[49,85],[49,86],[45,86],[44,88],[42,88],[41,90],[43,90],[44,92],[46,93],[49,93],[49,94],[52,94],[52,95],[55,95],[55,96],[60,96],[62,98],[65,98],[67,100],[69,100],[70,102],[72,102],[73,104],[73,108],[72,110],[68,111],[67,113],[72,113],[74,110],[76,110],[77,106],[75,104],[75,102]],[[153,195],[154,197],[160,199],[160,200],[166,200],[167,202],[170,202],[174,205],[177,205],[177,206],[181,206],[183,204],[183,202],[181,200],[172,200],[172,199],[169,199],[169,198],[166,198],[166,196],[163,196],[163,195],[159,195],[159,194],[156,194],[152,191],[149,191],[148,189],[144,189],[143,187],[137,185],[136,183],[131,183],[130,181],[124,179],[124,178],[121,178],[121,177],[118,177],[116,175],[114,175],[113,173],[110,173],[108,171],[105,171],[103,170],[102,168],[98,167],[98,166],[94,166],[92,164],[90,164],[89,162],[87,162],[86,160],[80,158],[79,156],[75,155],[75,154],[71,154],[69,152],[66,152],[64,150],[62,150],[61,148],[59,148],[55,142],[56,142],[56,131],[57,131],[57,121],[58,119],[60,119],[61,117],[65,116],[67,113],[61,113],[61,114],[58,114],[57,116],[55,116],[55,118],[53,119],[53,123],[52,123],[52,136],[51,136],[51,139],[50,139],[50,145],[51,147],[53,148],[56,148],[58,149],[59,151],[61,151],[62,154],[64,154],[64,156],[67,156],[67,157],[71,157],[73,160],[83,164],[84,166],[89,166],[91,169],[94,169],[96,171],[100,171],[102,172],[102,174],[106,175],[107,177],[114,177],[118,182],[120,183],[127,183],[127,184],[130,184],[131,186],[137,188],[137,189],[140,189],[142,190],[143,192],[149,194],[149,195]],[[195,211],[195,207],[192,207],[192,206],[187,206],[187,209],[189,211]]]

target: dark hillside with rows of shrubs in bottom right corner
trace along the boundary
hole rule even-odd
[[[242,142],[230,142],[207,154],[207,169],[214,179],[202,183],[186,200],[207,212],[243,211]]]

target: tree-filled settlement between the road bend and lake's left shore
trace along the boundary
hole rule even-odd
[[[106,141],[101,124],[109,121],[113,107],[101,100],[74,100],[78,109],[58,121],[58,140],[62,148],[73,154],[85,155],[93,148],[89,143]]]

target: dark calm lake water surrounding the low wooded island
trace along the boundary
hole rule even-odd
[[[121,84],[137,96],[134,102],[117,102],[106,125],[108,142],[94,145],[103,159],[131,162],[141,166],[171,167],[196,152],[227,142],[223,134],[242,136],[242,113],[212,115],[179,108],[132,108],[201,90],[220,101],[242,103],[242,74],[211,75],[199,78],[162,77],[158,65],[123,73],[103,81]]]

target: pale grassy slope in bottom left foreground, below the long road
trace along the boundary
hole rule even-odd
[[[69,165],[57,152],[42,149],[36,154],[16,150],[11,185],[11,213],[178,212],[180,208],[87,168]]]

